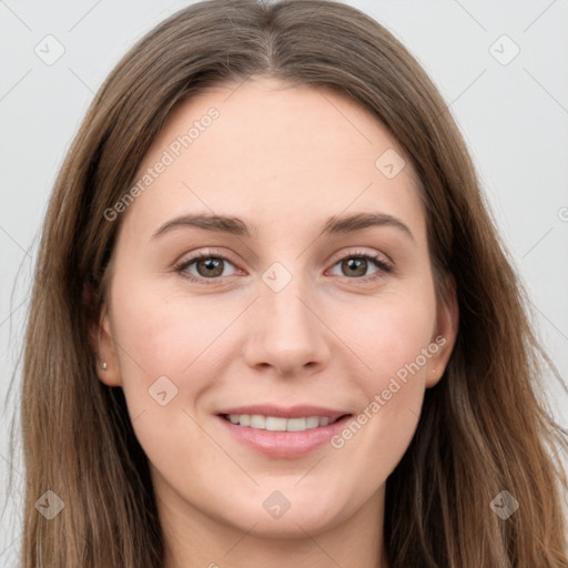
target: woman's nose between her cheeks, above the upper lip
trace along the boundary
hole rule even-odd
[[[308,294],[296,278],[278,292],[261,283],[258,298],[247,311],[253,329],[247,334],[245,362],[257,369],[271,368],[278,376],[324,368],[332,334],[321,311],[314,294]]]

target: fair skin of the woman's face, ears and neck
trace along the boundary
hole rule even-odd
[[[219,110],[121,213],[99,376],[123,388],[149,457],[166,568],[385,568],[385,481],[449,358],[455,297],[436,304],[416,173],[406,158],[393,179],[376,168],[386,150],[404,152],[372,114],[343,95],[273,79],[236,87],[179,105],[140,166],[142,175],[193,121]],[[258,234],[181,226],[152,239],[166,221],[197,212],[239,216]],[[396,216],[413,239],[387,225],[318,237],[328,217],[355,212]],[[175,271],[207,247],[230,260],[216,284]],[[368,261],[353,275],[341,261],[355,252],[378,254],[393,271]],[[292,276],[278,292],[262,280],[274,262]],[[197,264],[185,274],[205,280]],[[215,416],[267,402],[356,416],[439,335],[445,345],[341,448],[266,457]],[[178,388],[164,406],[149,395],[161,376]],[[274,490],[291,503],[280,518],[263,507]]]

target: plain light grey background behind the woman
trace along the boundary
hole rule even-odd
[[[38,236],[65,151],[120,57],[189,3],[0,0],[2,397],[21,349]],[[568,0],[346,3],[386,26],[438,85],[531,295],[541,341],[566,377]],[[55,40],[44,39],[49,34]],[[58,49],[64,53],[50,61]],[[19,388],[19,375],[17,381]],[[568,426],[568,397],[554,378],[550,394],[555,417]],[[0,565],[7,567],[16,565],[21,534],[23,468],[19,453],[10,463],[7,436],[17,400],[14,392],[0,425],[1,486],[10,469],[17,485],[2,490],[0,501],[9,505],[0,530]]]

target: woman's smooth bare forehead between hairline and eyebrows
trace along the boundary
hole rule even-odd
[[[400,171],[393,176],[385,165]],[[180,103],[133,184],[144,176],[128,216],[138,211],[153,225],[195,210],[261,225],[288,220],[288,229],[294,219],[348,210],[422,223],[414,169],[369,111],[327,89],[273,79],[220,84]]]

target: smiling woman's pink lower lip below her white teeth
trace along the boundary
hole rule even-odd
[[[295,458],[306,456],[329,442],[332,436],[344,428],[351,418],[344,416],[327,426],[317,426],[303,432],[272,432],[239,426],[222,416],[217,418],[239,442],[268,457]]]

